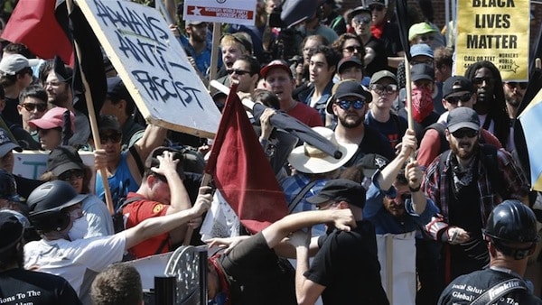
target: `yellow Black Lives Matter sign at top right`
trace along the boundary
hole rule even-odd
[[[455,70],[491,61],[503,80],[528,80],[528,0],[458,1]]]

